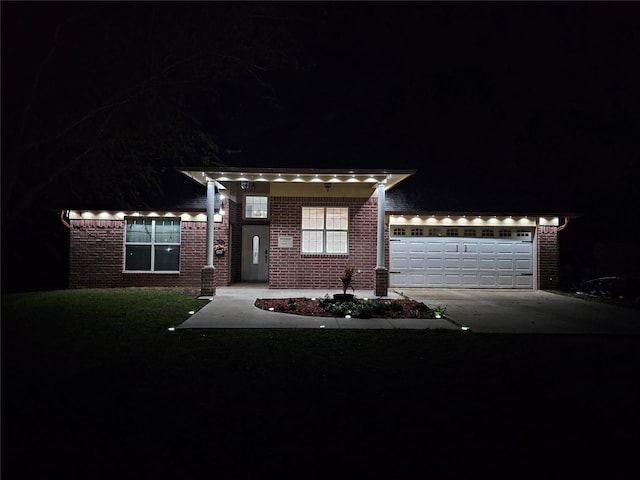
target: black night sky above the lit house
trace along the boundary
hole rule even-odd
[[[635,2],[1,8],[3,229],[6,205],[131,205],[153,187],[138,179],[212,162],[417,168],[398,194],[433,210],[621,215],[640,203]],[[15,155],[192,52],[117,109]],[[213,138],[215,154],[187,137]],[[25,172],[75,157],[31,198],[5,196],[6,178],[29,190]]]

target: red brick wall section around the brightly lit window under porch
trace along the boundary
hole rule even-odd
[[[302,254],[302,207],[348,207],[349,253]],[[376,198],[271,197],[269,286],[271,288],[341,288],[340,275],[349,265],[362,270],[355,289],[375,288]],[[291,248],[278,247],[280,235],[293,237]],[[388,242],[385,242],[385,249]],[[387,253],[388,256],[388,253]]]

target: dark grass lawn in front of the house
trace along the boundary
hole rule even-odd
[[[171,290],[2,297],[4,478],[622,478],[638,337],[176,330]]]

